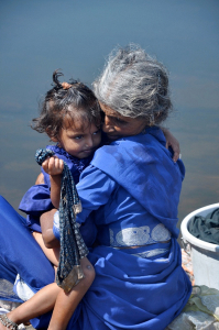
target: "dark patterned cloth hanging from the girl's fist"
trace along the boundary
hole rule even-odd
[[[36,162],[42,165],[53,154],[51,150],[37,150]],[[76,223],[76,215],[80,211],[81,205],[77,189],[70,170],[64,162],[59,202],[61,256],[56,283],[66,293],[84,278],[80,258],[89,253]]]

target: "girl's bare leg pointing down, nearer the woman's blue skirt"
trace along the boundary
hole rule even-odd
[[[58,293],[48,330],[65,330],[76,307],[89,289],[95,279],[95,270],[87,257],[80,261],[85,278],[76,285],[70,293]]]

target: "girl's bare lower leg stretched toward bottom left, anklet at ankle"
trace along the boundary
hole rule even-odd
[[[17,324],[39,317],[53,309],[61,290],[56,283],[52,283],[37,292],[31,299],[7,314],[7,317]],[[0,322],[0,329],[7,328]]]

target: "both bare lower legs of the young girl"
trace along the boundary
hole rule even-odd
[[[24,323],[32,318],[52,310],[55,306],[48,329],[65,330],[76,307],[95,279],[95,270],[87,257],[84,257],[80,264],[85,278],[69,294],[65,294],[56,283],[52,283],[42,288],[31,299],[7,314],[9,320],[18,324]],[[6,329],[8,328],[0,322],[0,330]]]

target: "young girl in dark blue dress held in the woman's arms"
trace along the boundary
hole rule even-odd
[[[89,164],[95,150],[101,142],[100,110],[96,97],[87,86],[78,81],[61,84],[58,81],[61,75],[57,70],[54,72],[53,81],[55,86],[46,94],[41,114],[33,120],[33,129],[40,133],[45,132],[53,142],[57,143],[46,146],[46,148],[52,150],[55,156],[59,157],[59,160],[57,157],[53,160],[56,165],[61,164],[61,168],[63,168],[63,161],[65,161],[75,184],[77,184],[80,173]],[[47,174],[42,168],[42,173],[43,184],[29,189],[21,201],[20,209],[28,213],[28,226],[32,229],[33,237],[45,255],[57,266],[59,246],[58,244],[55,249],[45,246],[40,226],[40,216],[54,209],[51,196],[56,191],[53,191],[53,185],[51,186],[50,170]],[[47,231],[54,230],[48,226]],[[57,232],[55,232],[56,238],[58,238]],[[95,270],[86,256],[80,260],[80,265],[85,277],[73,287],[70,293],[66,294],[56,283],[44,287],[30,300],[13,310],[12,315],[9,314],[9,318],[7,316],[1,317],[0,329],[3,329],[2,326],[15,329],[14,320],[17,323],[25,322],[30,318],[52,310],[59,293],[64,296],[70,296],[69,307],[63,306],[65,308],[64,319],[56,322],[57,329],[58,327],[65,329],[75,308],[95,278]]]

